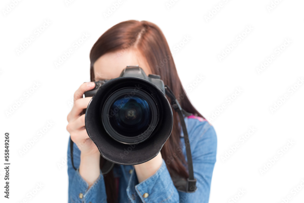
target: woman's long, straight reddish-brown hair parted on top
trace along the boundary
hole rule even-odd
[[[95,78],[93,65],[99,57],[105,53],[114,51],[118,54],[123,54],[131,48],[142,54],[150,66],[152,74],[161,76],[164,84],[172,89],[183,109],[189,113],[203,117],[193,107],[181,85],[164,34],[157,25],[148,21],[124,21],[114,25],[99,37],[90,52],[91,81],[94,81]],[[168,100],[170,101],[169,98]],[[174,174],[178,174],[181,177],[188,178],[188,172],[185,168],[185,157],[181,153],[181,128],[178,124],[179,117],[176,112],[173,112],[173,118],[172,133],[161,149],[161,155],[166,162],[171,177]],[[102,162],[101,158],[101,166]],[[112,172],[105,176],[105,185],[108,202],[114,202],[118,195],[115,194],[115,181]]]

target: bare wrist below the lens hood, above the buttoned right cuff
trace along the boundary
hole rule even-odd
[[[145,163],[134,165],[138,182],[146,180],[152,176],[160,167],[163,162],[161,152],[159,152],[153,159]]]

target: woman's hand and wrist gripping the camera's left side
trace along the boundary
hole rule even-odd
[[[83,83],[74,94],[74,105],[67,115],[67,131],[71,140],[77,145],[80,153],[79,173],[91,187],[100,175],[100,153],[97,146],[89,138],[85,129],[85,114],[82,111],[88,107],[92,97],[83,97],[83,94],[95,87],[94,82]]]

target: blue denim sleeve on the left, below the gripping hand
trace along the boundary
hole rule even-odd
[[[107,202],[105,181],[101,170],[97,180],[88,188],[88,183],[79,174],[80,150],[75,143],[73,144],[73,161],[77,170],[72,166],[70,142],[71,140],[69,139],[67,150],[68,203]]]

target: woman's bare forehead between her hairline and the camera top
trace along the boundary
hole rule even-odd
[[[106,53],[95,61],[93,65],[95,81],[117,78],[128,65],[139,65],[147,75],[151,74],[150,67],[141,54],[133,50],[121,50]]]

